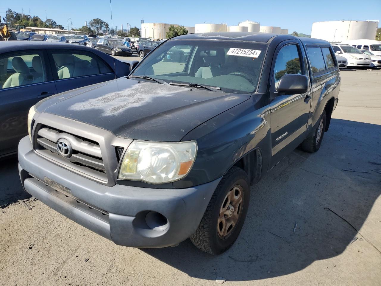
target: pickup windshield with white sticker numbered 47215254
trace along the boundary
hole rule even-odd
[[[170,40],[155,48],[133,75],[253,93],[266,48],[253,42]]]

